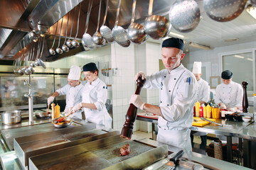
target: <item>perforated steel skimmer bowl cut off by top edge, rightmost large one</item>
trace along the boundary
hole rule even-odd
[[[247,0],[203,0],[206,14],[218,22],[237,18],[245,8]]]

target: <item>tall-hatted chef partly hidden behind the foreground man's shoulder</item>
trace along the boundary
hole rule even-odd
[[[207,81],[201,79],[202,72],[201,68],[202,62],[194,62],[193,63],[193,74],[196,77],[198,82],[198,88],[196,89],[196,100],[202,105],[203,103],[207,103],[210,98],[210,86]],[[201,137],[201,149],[206,149],[206,140],[207,134],[206,132],[191,132],[191,141],[193,142],[193,135]]]

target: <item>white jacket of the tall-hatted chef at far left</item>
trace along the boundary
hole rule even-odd
[[[57,90],[59,95],[64,95],[64,94],[66,95],[65,108],[73,108],[73,106],[82,102],[82,89],[83,89],[82,84],[79,84],[78,86],[75,86],[75,87],[67,84]],[[76,118],[82,119],[82,112],[78,111],[76,113],[73,113],[73,116]]]

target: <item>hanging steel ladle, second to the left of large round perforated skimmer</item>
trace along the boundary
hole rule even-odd
[[[132,42],[134,42],[136,44],[141,44],[149,36],[146,35],[144,26],[142,26],[142,24],[134,23],[136,2],[137,2],[137,0],[134,0],[133,4],[132,4],[132,20],[131,20],[131,24],[129,25],[129,28],[127,30],[127,35],[128,35],[129,40],[131,40]]]

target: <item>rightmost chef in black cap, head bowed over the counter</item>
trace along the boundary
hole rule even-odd
[[[216,87],[215,103],[218,103],[220,110],[228,111],[242,110],[242,86],[232,81],[233,73],[225,70],[221,73],[223,83]]]

